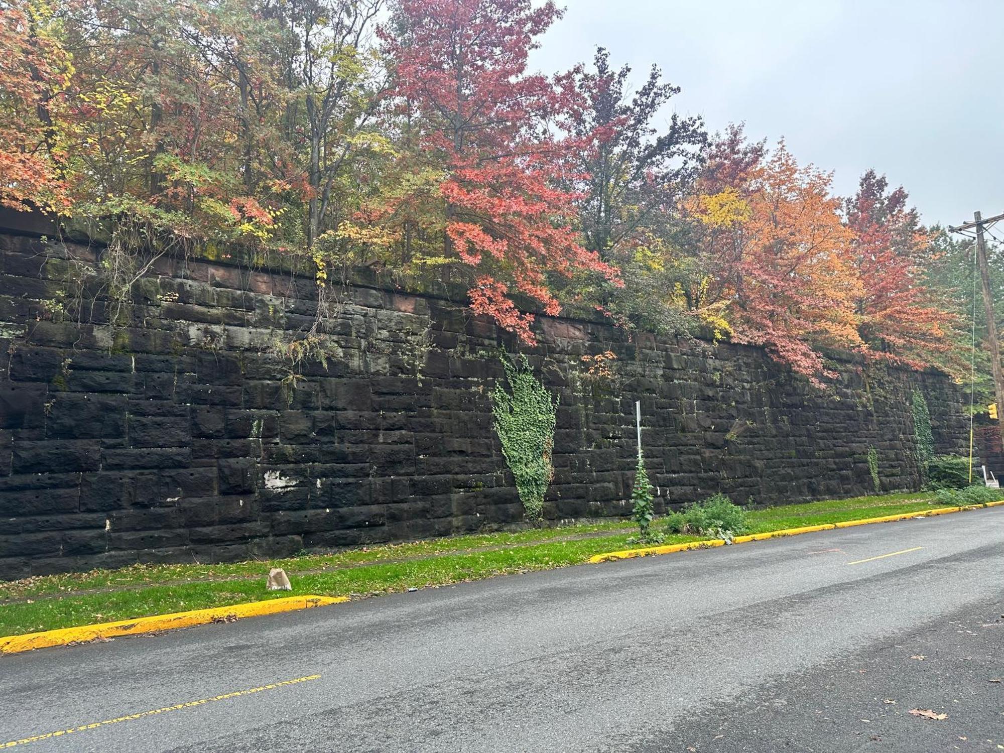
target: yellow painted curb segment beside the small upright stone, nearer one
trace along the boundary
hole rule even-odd
[[[207,622],[230,622],[243,617],[256,617],[262,614],[275,614],[280,611],[308,609],[312,606],[327,606],[347,601],[347,596],[287,596],[265,601],[253,601],[246,604],[231,606],[213,606],[208,609],[192,611],[176,611],[173,614],[155,614],[136,619],[120,619],[117,622],[102,622],[100,624],[82,624],[79,628],[62,628],[57,631],[28,633],[24,636],[7,636],[0,638],[0,654],[17,654],[32,649],[45,649],[50,646],[65,646],[66,644],[85,641],[107,640],[119,636],[137,636],[143,633],[174,631],[179,628],[191,628]]]

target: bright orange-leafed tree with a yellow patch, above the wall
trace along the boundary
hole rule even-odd
[[[697,292],[719,303],[733,341],[761,345],[822,386],[833,374],[819,348],[860,344],[852,235],[828,174],[799,167],[783,144],[758,158],[732,137],[709,160],[708,193],[692,202],[708,270]]]

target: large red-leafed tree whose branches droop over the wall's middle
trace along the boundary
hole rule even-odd
[[[526,72],[535,38],[559,15],[552,3],[529,0],[401,0],[395,33],[384,33],[398,117],[422,151],[422,169],[440,171],[429,210],[441,222],[425,223],[442,228],[440,261],[472,268],[472,309],[526,342],[533,316],[514,294],[553,314],[552,275],[616,276],[580,245],[574,196],[561,188],[577,144],[558,135],[576,106],[573,78]],[[365,221],[393,224],[405,203],[398,197]]]

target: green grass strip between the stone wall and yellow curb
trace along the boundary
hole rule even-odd
[[[752,535],[822,524],[932,512],[935,495],[897,493],[822,500],[749,512]],[[659,523],[655,523],[658,525]],[[598,554],[625,550],[636,530],[620,519],[517,532],[370,545],[328,554],[222,564],[131,565],[117,570],[40,575],[0,582],[0,636],[136,621],[176,613],[288,596],[267,591],[265,573],[282,567],[297,593],[361,598],[467,582],[494,575],[584,564]],[[841,526],[842,527],[842,526]],[[593,534],[593,535],[590,535]],[[720,545],[700,536],[672,534],[676,550]]]

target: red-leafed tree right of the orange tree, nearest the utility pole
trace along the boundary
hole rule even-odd
[[[922,282],[930,243],[907,192],[890,192],[885,176],[869,170],[844,213],[861,284],[854,309],[865,352],[914,367],[943,362],[955,316]]]

